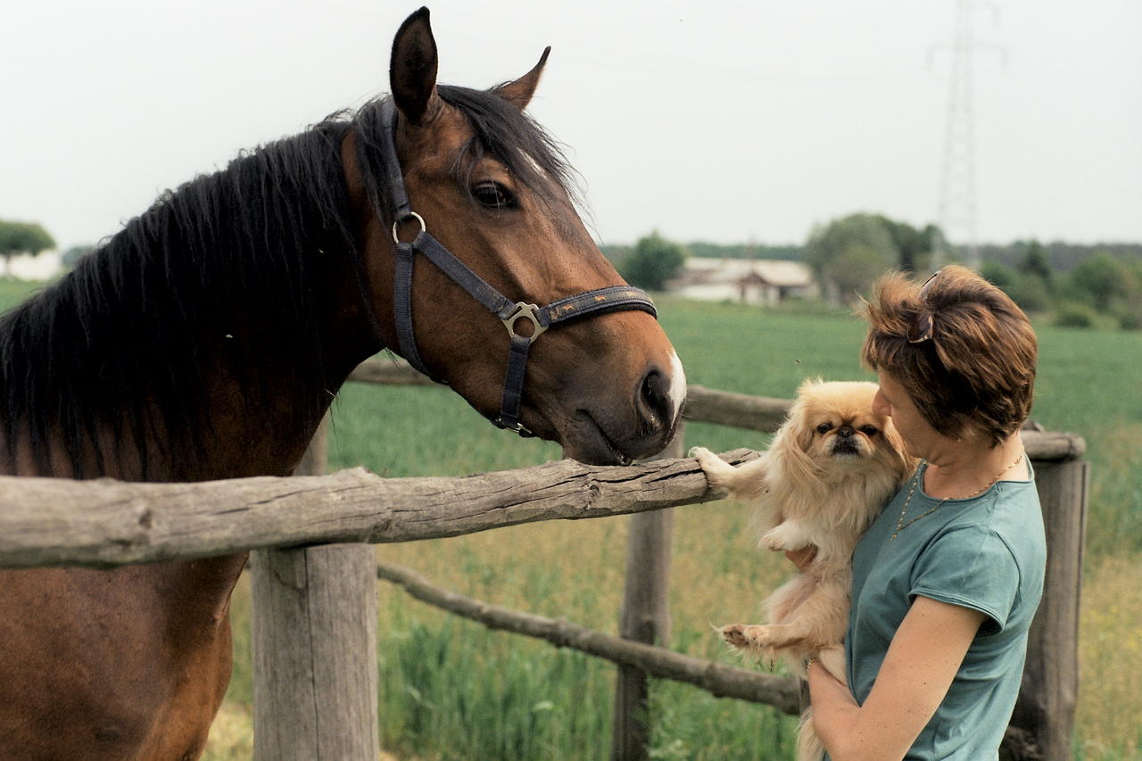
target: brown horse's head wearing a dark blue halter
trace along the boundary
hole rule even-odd
[[[523,113],[548,50],[491,90],[441,86],[428,10],[412,14],[393,43],[391,98],[359,112],[343,149],[349,194],[373,206],[364,269],[385,346],[501,427],[626,463],[669,442],[685,378],[649,297],[598,250],[565,162]]]

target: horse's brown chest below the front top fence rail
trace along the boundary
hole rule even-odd
[[[0,571],[0,758],[198,758],[230,678],[230,623],[179,590],[185,576]]]

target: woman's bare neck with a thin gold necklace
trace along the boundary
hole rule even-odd
[[[1024,480],[1023,440],[1016,432],[997,447],[982,436],[943,438],[925,458],[924,492],[938,499],[959,499],[986,491],[1003,479]]]

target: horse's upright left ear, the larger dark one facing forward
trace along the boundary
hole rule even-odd
[[[413,123],[432,121],[441,107],[436,94],[436,40],[428,24],[428,9],[404,19],[393,40],[388,65],[393,102]]]

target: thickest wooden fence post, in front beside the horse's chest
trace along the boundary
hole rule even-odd
[[[297,474],[325,470],[325,427],[322,423]],[[372,547],[325,545],[254,555],[254,758],[376,759]]]

